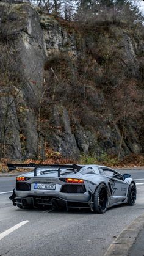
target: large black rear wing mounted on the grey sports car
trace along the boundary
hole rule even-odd
[[[60,177],[60,169],[71,169],[74,172],[79,172],[81,169],[81,166],[78,166],[77,164],[7,164],[7,167],[9,168],[9,171],[15,170],[16,168],[32,168],[34,169],[34,176],[37,176],[37,169],[38,168],[49,168],[49,167],[55,167],[57,168],[58,177]],[[56,169],[55,169],[56,171]]]

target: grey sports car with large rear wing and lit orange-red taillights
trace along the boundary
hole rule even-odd
[[[131,175],[106,166],[77,164],[8,164],[9,170],[33,168],[16,177],[10,200],[20,208],[90,208],[105,213],[121,203],[134,205],[136,186]]]

